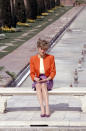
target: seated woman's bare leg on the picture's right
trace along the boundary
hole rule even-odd
[[[49,110],[49,98],[48,98],[48,90],[47,90],[47,85],[46,83],[42,84],[42,95],[43,95],[43,99],[45,102],[45,108],[46,108],[46,114],[50,115],[50,110]]]

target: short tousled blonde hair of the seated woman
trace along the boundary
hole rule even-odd
[[[49,48],[49,42],[46,40],[41,40],[38,39],[37,41],[37,48],[42,48],[42,49],[48,49]]]

